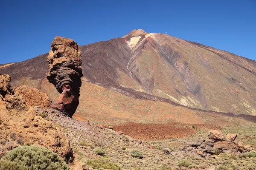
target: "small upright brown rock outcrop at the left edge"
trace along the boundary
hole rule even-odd
[[[3,97],[5,97],[6,94],[14,94],[10,82],[11,77],[9,75],[0,74],[0,95]]]

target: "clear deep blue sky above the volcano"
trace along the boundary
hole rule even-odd
[[[49,52],[56,35],[86,45],[134,29],[256,60],[256,0],[1,0],[0,64]]]

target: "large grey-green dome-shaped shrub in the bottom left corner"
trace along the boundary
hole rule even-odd
[[[39,146],[16,147],[9,151],[1,161],[17,163],[21,167],[27,167],[27,170],[70,170],[66,162],[56,153]]]

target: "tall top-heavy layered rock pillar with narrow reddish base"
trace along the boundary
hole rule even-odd
[[[71,39],[55,37],[47,57],[49,73],[47,79],[61,94],[50,108],[72,117],[79,105],[81,87],[81,49]]]

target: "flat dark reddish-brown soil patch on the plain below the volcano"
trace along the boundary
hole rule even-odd
[[[140,124],[128,122],[125,125],[113,126],[116,131],[123,131],[126,135],[136,139],[171,139],[195,134],[190,125],[177,122],[167,124]]]

